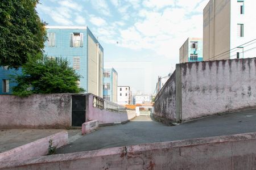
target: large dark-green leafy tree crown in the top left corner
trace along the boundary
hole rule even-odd
[[[18,68],[29,58],[41,58],[46,23],[35,10],[39,0],[1,0],[0,66]]]

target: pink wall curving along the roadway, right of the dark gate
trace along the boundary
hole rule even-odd
[[[136,117],[136,112],[111,112],[93,107],[93,95],[86,95],[86,122],[98,120],[99,124],[121,123]]]

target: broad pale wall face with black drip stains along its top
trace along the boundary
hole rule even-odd
[[[256,107],[256,58],[181,64],[183,121]]]

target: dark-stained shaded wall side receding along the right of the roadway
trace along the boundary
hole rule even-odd
[[[154,111],[155,118],[176,122],[176,71],[155,97]]]

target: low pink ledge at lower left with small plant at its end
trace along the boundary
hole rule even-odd
[[[0,153],[0,167],[7,162],[14,160],[26,160],[36,156],[43,156],[48,154],[49,140],[52,139],[53,146],[57,148],[68,144],[68,132],[61,131],[59,133],[49,135],[34,142],[27,143],[9,151]]]

